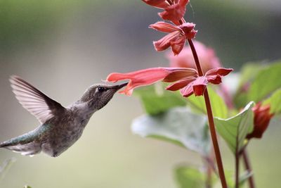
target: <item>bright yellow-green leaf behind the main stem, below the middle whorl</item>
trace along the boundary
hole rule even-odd
[[[211,100],[211,109],[213,111],[214,117],[227,118],[228,108],[226,106],[225,101],[223,101],[221,96],[219,96],[211,87],[208,87],[208,92],[209,98]],[[195,111],[207,114],[204,96],[189,96],[188,104]]]

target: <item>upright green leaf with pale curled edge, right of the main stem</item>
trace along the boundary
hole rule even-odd
[[[215,118],[215,125],[218,133],[226,141],[231,151],[235,154],[243,148],[245,137],[254,128],[254,113],[251,108],[254,102],[250,102],[247,106],[232,118],[221,119]]]

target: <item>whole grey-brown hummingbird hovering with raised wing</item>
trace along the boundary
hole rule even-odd
[[[103,108],[127,84],[93,84],[79,100],[63,107],[18,76],[11,76],[10,82],[15,98],[39,120],[40,125],[26,134],[1,142],[0,148],[24,156],[43,151],[52,157],[60,156],[77,142],[93,113]]]

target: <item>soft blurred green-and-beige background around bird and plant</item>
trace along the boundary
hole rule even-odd
[[[157,12],[141,0],[0,0],[0,142],[39,124],[13,96],[10,75],[67,106],[108,73],[169,65],[152,46],[163,35],[148,29],[160,20]],[[280,58],[281,1],[191,1],[185,19],[197,24],[197,40],[213,47],[225,67],[238,71],[249,61]],[[58,158],[1,149],[0,163],[17,161],[0,187],[176,187],[174,167],[202,161],[183,148],[133,135],[131,120],[142,113],[138,99],[117,94]],[[280,131],[273,122],[249,146],[258,187],[280,187]],[[233,169],[225,145],[222,153]]]

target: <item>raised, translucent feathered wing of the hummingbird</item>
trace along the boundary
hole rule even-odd
[[[15,98],[18,99],[23,108],[34,115],[41,124],[53,118],[58,112],[65,111],[57,101],[50,99],[46,94],[32,86],[18,76],[11,76],[11,87]]]

